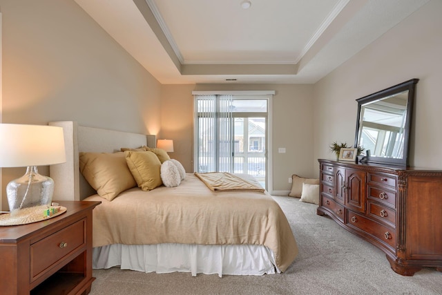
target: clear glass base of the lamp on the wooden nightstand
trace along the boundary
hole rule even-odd
[[[6,187],[11,215],[20,209],[50,206],[54,194],[54,180],[39,174],[37,166],[28,166],[25,175],[12,180]]]

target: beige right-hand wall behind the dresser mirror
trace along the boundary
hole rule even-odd
[[[419,78],[410,165],[442,169],[441,12],[442,1],[430,1],[315,84],[314,167],[332,158],[333,141],[354,143],[355,99]]]

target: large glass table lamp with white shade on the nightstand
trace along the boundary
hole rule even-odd
[[[6,187],[11,216],[27,208],[40,210],[51,205],[54,181],[40,175],[37,166],[63,162],[66,152],[61,127],[0,124],[0,167],[28,167],[25,175]]]

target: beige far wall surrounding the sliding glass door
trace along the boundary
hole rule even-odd
[[[162,86],[161,135],[174,140],[172,158],[193,172],[193,95],[191,91],[276,91],[273,96],[273,193],[287,194],[289,177],[296,173],[314,175],[313,157],[313,86],[289,84],[198,84]],[[178,126],[178,128],[177,128]],[[278,153],[285,147],[286,153]],[[176,154],[176,155],[175,155]]]

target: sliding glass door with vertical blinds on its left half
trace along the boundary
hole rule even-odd
[[[195,95],[195,171],[247,173],[267,186],[268,97]]]

